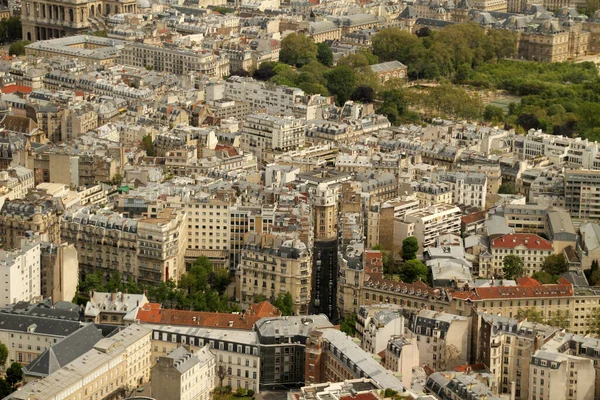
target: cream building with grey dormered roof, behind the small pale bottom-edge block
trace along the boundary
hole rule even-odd
[[[153,360],[182,345],[189,346],[194,353],[208,345],[215,356],[215,386],[220,384],[216,372],[222,368],[226,372],[224,386],[231,386],[234,392],[238,388],[260,391],[261,354],[256,333],[226,327],[153,325],[151,328]]]

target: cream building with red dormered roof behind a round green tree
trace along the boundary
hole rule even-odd
[[[531,276],[541,271],[546,257],[554,254],[552,242],[541,236],[529,233],[509,233],[490,242],[491,259],[482,259],[479,263],[480,276],[491,278],[503,276],[503,260],[508,255],[523,260],[524,274]]]

